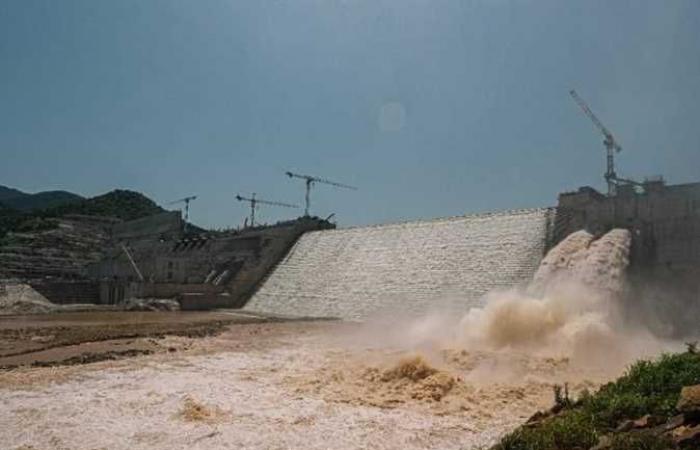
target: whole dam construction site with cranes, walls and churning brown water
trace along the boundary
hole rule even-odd
[[[571,96],[603,136],[607,192],[342,227],[313,215],[313,190],[357,187],[286,172],[305,210],[275,224],[258,208],[298,206],[239,194],[243,227],[205,230],[191,195],[10,231],[2,441],[484,448],[553,386],[588,392],[677,348],[700,311],[700,182],[619,177],[622,147]]]

